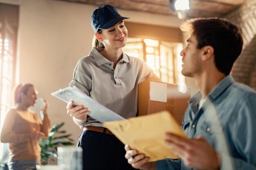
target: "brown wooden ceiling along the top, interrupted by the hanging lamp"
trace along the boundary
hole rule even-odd
[[[144,11],[163,15],[177,16],[170,9],[169,0],[62,0],[66,2],[78,2],[101,6],[110,4],[119,9]],[[233,11],[247,0],[191,0],[190,10],[187,11],[189,18],[196,17],[221,17]]]

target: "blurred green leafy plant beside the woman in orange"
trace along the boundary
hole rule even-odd
[[[59,130],[65,123],[55,124],[47,138],[40,138],[39,145],[41,148],[41,164],[48,164],[49,156],[57,157],[57,148],[59,146],[74,145],[71,134],[65,134],[65,130]],[[58,135],[57,135],[58,134]],[[54,161],[54,159],[52,159]]]

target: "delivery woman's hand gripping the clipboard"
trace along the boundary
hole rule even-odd
[[[90,113],[88,108],[84,108],[83,105],[74,106],[74,102],[70,101],[67,104],[67,114],[79,120],[86,120],[87,115]]]

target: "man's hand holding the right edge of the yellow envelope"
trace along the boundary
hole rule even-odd
[[[184,139],[166,133],[165,142],[171,147],[171,151],[178,155],[189,168],[200,170],[220,169],[217,152],[203,137]]]

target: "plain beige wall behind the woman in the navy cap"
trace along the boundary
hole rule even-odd
[[[51,93],[68,86],[76,62],[88,55],[93,30],[90,26],[92,11],[97,6],[56,0],[0,0],[20,5],[18,31],[18,82],[31,82],[39,96],[50,104],[52,124],[65,121],[63,129],[72,133],[75,142],[80,129],[66,114],[66,104]],[[139,22],[178,27],[180,20],[168,15],[156,15],[117,9],[130,17],[128,22]]]

